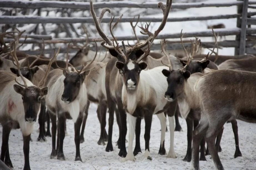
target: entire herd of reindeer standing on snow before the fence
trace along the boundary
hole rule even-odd
[[[135,156],[142,152],[140,147],[142,118],[145,120],[144,157],[152,160],[149,143],[154,114],[160,120],[159,154],[161,155],[167,154],[168,158],[176,158],[174,131],[181,130],[179,125],[179,115],[181,115],[187,123],[187,154],[183,160],[187,162],[192,160],[192,169],[199,169],[199,160],[206,161],[207,154],[212,156],[216,169],[224,169],[218,152],[222,150],[220,140],[223,126],[228,121],[232,124],[235,136],[234,158],[242,156],[236,119],[256,123],[254,89],[256,58],[253,55],[218,55],[218,52],[214,51],[216,47],[218,49],[218,35],[213,29],[215,44],[211,54],[197,54],[202,48],[202,42],[197,37],[191,40],[191,48],[188,52],[182,42],[184,36],[182,32],[180,40],[185,51],[183,58],[168,54],[165,40],[161,41],[161,53],[151,52],[154,39],[164,29],[171,5],[172,0],[167,0],[166,4],[159,2],[163,19],[154,32],[149,31],[149,24],[140,27],[141,33],[148,35],[145,41],[139,40],[135,33],[134,28],[139,17],[135,26],[131,21],[138,41],[131,46],[125,45],[123,41],[119,45],[113,34],[113,29],[122,16],[117,18],[114,25],[112,24],[114,17],[111,19],[109,30],[112,38],[109,38],[101,28],[101,20],[106,12],[111,11],[104,8],[97,17],[91,0],[90,12],[97,32],[104,40],[101,45],[108,50],[103,59],[98,58],[100,55],[97,53],[96,42],[96,53],[89,50],[87,42],[69,61],[68,50],[66,61],[56,59],[59,49],[57,52],[54,50],[50,60],[44,58],[43,51],[39,56],[21,54],[16,49],[23,32],[1,33],[2,38],[11,36],[14,39],[8,45],[1,41],[1,161],[13,168],[9,153],[9,134],[12,128],[20,128],[23,135],[24,169],[30,169],[29,143],[38,114],[37,140],[45,141],[45,136],[52,137],[51,159],[65,160],[63,141],[66,119],[73,120],[75,161],[82,161],[80,143],[84,142],[90,102],[98,105],[97,116],[101,133],[97,143],[105,145],[107,142],[107,152],[113,151],[112,131],[114,113],[116,113],[119,127],[118,155],[125,160],[135,161]],[[93,57],[90,58],[89,53],[93,54]],[[107,110],[108,132],[106,131]],[[170,132],[168,153],[164,145],[167,116]],[[126,151],[127,122],[128,151]],[[135,147],[133,147],[134,134]]]

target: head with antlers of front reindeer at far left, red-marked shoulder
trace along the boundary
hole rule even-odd
[[[18,43],[19,43],[18,39],[16,39],[16,44],[18,44]],[[26,83],[27,80],[21,74],[19,61],[16,56],[16,45],[14,45],[14,50],[10,51],[10,54],[13,56],[13,58],[16,62],[16,65],[17,65],[17,72],[23,81],[23,84],[21,84],[15,78],[15,81],[17,84],[14,84],[13,88],[17,93],[21,94],[21,96],[22,96],[22,102],[23,102],[24,113],[25,113],[24,119],[27,123],[36,122],[37,114],[38,114],[38,112],[40,110],[40,106],[41,106],[41,99],[48,92],[48,87],[40,88],[40,86],[42,86],[44,84],[46,76],[50,71],[51,64],[52,64],[53,60],[56,59],[56,56],[58,55],[58,53],[59,53],[59,50],[58,50],[57,54],[55,53],[55,55],[50,60],[47,70],[45,72],[45,75],[42,78],[42,80],[39,82],[39,86],[37,87],[37,86],[27,86],[27,83]]]

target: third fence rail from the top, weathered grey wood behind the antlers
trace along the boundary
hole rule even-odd
[[[183,30],[184,32],[186,30]],[[216,34],[219,34],[219,36],[227,36],[227,35],[240,35],[241,29],[240,28],[233,28],[233,29],[214,29],[214,32]],[[256,34],[256,28],[247,28],[247,34]],[[186,37],[212,37],[212,31],[200,31],[200,32],[187,32],[184,35],[184,38]],[[148,38],[147,35],[138,35],[137,36],[140,40],[143,40],[145,38]],[[134,36],[116,36],[117,40],[136,40]],[[155,39],[168,39],[168,38],[180,38],[180,33],[174,33],[174,34],[159,34]],[[44,40],[44,43],[69,43],[72,39],[73,43],[83,43],[86,42],[87,38],[52,38],[51,40]],[[4,38],[5,42],[9,43],[13,39],[11,38]],[[89,42],[92,42],[93,40],[97,42],[103,41],[101,37],[89,37]],[[21,38],[19,40],[20,43],[42,43],[42,40],[35,40],[35,39],[27,39],[24,42],[24,38]]]

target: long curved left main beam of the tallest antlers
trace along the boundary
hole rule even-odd
[[[99,33],[99,35],[103,38],[103,40],[105,40],[107,42],[108,45],[113,45],[111,40],[106,36],[106,34],[104,34],[103,30],[101,29],[101,25],[100,25],[100,23],[97,19],[96,13],[95,13],[94,8],[93,8],[92,0],[90,0],[90,11],[91,11],[91,15],[92,15],[95,27],[96,27],[97,32]]]

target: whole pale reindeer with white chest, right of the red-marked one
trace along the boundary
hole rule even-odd
[[[96,42],[95,42],[96,43]],[[97,44],[96,44],[97,48]],[[97,51],[97,50],[96,50]],[[68,56],[68,52],[67,52]],[[66,119],[72,119],[75,130],[76,157],[75,161],[82,161],[80,156],[80,128],[83,119],[84,110],[87,104],[87,90],[84,79],[89,74],[87,70],[95,58],[87,66],[83,66],[80,71],[70,72],[68,70],[68,58],[66,59],[65,69],[54,69],[46,78],[45,85],[49,89],[49,95],[46,96],[46,106],[52,120],[52,152],[51,158],[57,156],[57,159],[65,160],[63,153],[63,141],[65,138]],[[58,118],[58,127],[56,125]],[[56,128],[57,150],[56,150]]]

